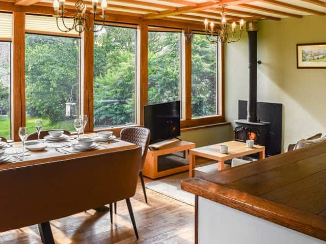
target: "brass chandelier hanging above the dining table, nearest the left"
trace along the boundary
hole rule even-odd
[[[90,12],[93,14],[94,20],[95,20],[96,14],[99,13],[99,11],[97,11],[97,3],[98,3],[98,0],[92,0],[93,9]],[[67,12],[65,10],[65,0],[59,0],[59,1],[54,0],[53,8],[55,9],[55,13],[56,13],[53,16],[56,17],[56,19],[57,19],[58,29],[61,32],[65,32],[65,33],[73,31],[73,30],[78,32],[79,35],[82,34],[82,32],[84,32],[85,30],[90,31],[90,32],[100,32],[104,26],[105,18],[107,17],[105,15],[105,12],[107,9],[106,0],[102,0],[102,3],[101,3],[102,15],[100,15],[100,17],[103,22],[102,22],[102,27],[97,30],[95,30],[94,27],[90,27],[87,23],[88,22],[87,20],[90,19],[91,17],[86,14],[86,4],[83,2],[83,0],[77,0],[77,2],[75,3],[76,14],[69,17],[69,18],[73,19],[72,26],[67,26],[67,24],[65,23],[65,20],[64,20],[64,13]],[[62,20],[64,29],[62,29],[62,27],[59,26],[60,19]]]

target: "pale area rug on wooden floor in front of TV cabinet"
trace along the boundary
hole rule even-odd
[[[165,178],[161,178],[146,183],[146,188],[163,194],[165,196],[176,199],[180,202],[195,206],[195,195],[185,192],[181,189],[181,180],[188,178],[188,171],[174,174]]]

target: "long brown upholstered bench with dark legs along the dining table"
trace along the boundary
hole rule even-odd
[[[6,199],[0,201],[6,209],[0,232],[40,223],[43,243],[55,243],[49,220],[125,199],[138,238],[129,198],[137,188],[141,151],[136,147],[0,170],[0,199]]]

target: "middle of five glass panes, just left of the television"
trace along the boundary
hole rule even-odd
[[[100,28],[100,26],[95,26]],[[105,26],[94,34],[94,127],[135,124],[136,30]]]

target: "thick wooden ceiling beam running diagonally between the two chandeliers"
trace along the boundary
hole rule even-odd
[[[201,10],[216,8],[223,4],[236,5],[236,4],[244,4],[244,3],[250,3],[255,1],[256,0],[220,0],[219,2],[205,2],[205,3],[196,4],[196,6],[184,6],[184,7],[177,8],[176,10],[161,11],[159,14],[146,14],[144,15],[144,19],[164,18],[164,17],[174,16],[174,15],[180,15],[185,13],[192,13]]]

